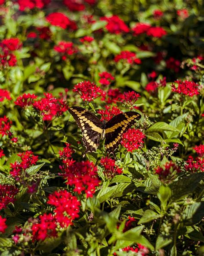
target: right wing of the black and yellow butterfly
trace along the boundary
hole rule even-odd
[[[126,132],[141,115],[137,112],[129,111],[115,115],[105,125],[105,148],[108,153],[114,154],[122,140],[122,134]]]

